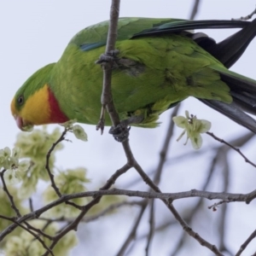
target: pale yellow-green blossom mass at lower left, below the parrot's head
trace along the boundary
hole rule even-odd
[[[72,122],[67,124],[65,128],[66,131],[73,132],[77,138],[83,141],[87,140],[86,133],[80,125],[73,125]],[[63,143],[60,142],[61,136],[59,128],[47,131],[46,126],[43,126],[43,129],[35,129],[31,133],[20,132],[17,136],[15,148],[12,150],[10,148],[0,149],[0,172],[3,173],[6,189],[8,189],[9,195],[12,196],[15,207],[19,209],[20,214],[23,215],[30,211],[30,209],[24,206],[27,205],[26,201],[28,198],[33,199],[32,195],[38,188],[38,182],[40,180],[49,182],[49,174],[45,169],[45,164],[46,156],[53,145],[54,150],[51,151],[48,166],[50,172],[57,172],[55,153],[63,148]],[[58,143],[56,143],[57,141]],[[60,188],[62,194],[82,192],[85,190],[84,183],[87,182],[89,182],[89,179],[86,177],[86,170],[84,168],[63,170],[55,175],[55,183]],[[2,204],[0,214],[8,217],[15,216],[16,214],[15,209],[10,204],[9,195],[0,187],[0,201]],[[44,190],[44,202],[49,203],[57,198],[58,196],[55,194],[55,191],[49,185],[49,188]],[[80,205],[84,204],[85,201],[84,198],[73,200],[73,202]],[[77,208],[61,204],[45,212],[44,216],[47,216],[49,219],[55,219],[60,216],[75,217],[78,213]],[[34,228],[44,230],[49,236],[55,236],[61,230],[59,224],[49,224],[49,222],[43,220],[30,220],[29,224]],[[4,230],[8,226],[9,221],[1,218],[0,230]],[[49,246],[49,240],[44,236],[42,236],[42,240],[45,245]],[[58,242],[53,252],[56,256],[68,255],[70,248],[74,247],[76,243],[77,237],[75,233],[69,232]],[[45,253],[45,248],[29,232],[18,227],[9,235],[9,239],[1,244],[0,251],[4,252],[4,255],[7,256],[18,254],[39,256]]]

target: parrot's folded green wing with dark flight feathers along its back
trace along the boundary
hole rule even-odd
[[[247,26],[248,23],[241,20],[119,18],[117,40],[161,36],[163,34],[194,29],[239,28]],[[107,20],[93,26],[88,26],[76,34],[69,44],[76,44],[84,51],[101,47],[107,43],[108,25],[109,21]]]

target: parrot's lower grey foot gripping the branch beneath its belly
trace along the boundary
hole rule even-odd
[[[119,142],[124,143],[129,137],[129,131],[131,130],[131,124],[140,124],[143,121],[144,117],[131,116],[129,119],[122,120],[119,125],[111,127],[108,133],[113,135],[113,138]]]

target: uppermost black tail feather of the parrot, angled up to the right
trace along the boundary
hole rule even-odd
[[[206,46],[205,49],[218,61],[222,62],[225,67],[230,68],[241,57],[255,36],[256,19],[247,23],[247,26],[229,38],[218,44]]]

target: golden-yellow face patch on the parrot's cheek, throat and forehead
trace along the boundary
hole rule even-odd
[[[13,114],[20,116],[32,125],[44,125],[49,123],[50,109],[47,84],[25,100],[25,105],[20,109],[20,112],[15,111],[15,102],[13,100],[11,103]]]

